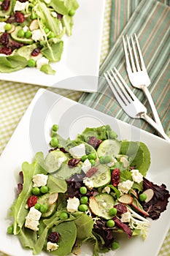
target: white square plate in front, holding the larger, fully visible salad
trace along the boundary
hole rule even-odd
[[[47,154],[50,129],[53,124],[59,125],[58,133],[63,138],[70,137],[74,139],[85,127],[98,127],[103,124],[109,124],[117,132],[119,139],[146,143],[151,154],[151,165],[147,178],[155,184],[166,184],[167,189],[170,189],[170,143],[85,105],[40,89],[20,124],[18,124],[17,129],[15,129],[0,158],[0,251],[9,255],[32,255],[31,250],[23,249],[16,236],[6,234],[7,226],[11,222],[7,214],[9,214],[9,208],[15,199],[18,172],[22,162],[31,162],[37,151],[43,151],[44,154]],[[150,255],[158,255],[163,239],[169,230],[169,216],[170,203],[166,211],[161,214],[160,219],[151,222],[145,241],[141,237],[128,239],[125,236],[120,238],[120,249],[117,249],[116,255],[143,256],[148,255],[148,253]],[[115,252],[111,251],[106,256],[114,254]],[[41,255],[45,256],[47,254],[42,252]],[[83,246],[80,255],[92,255],[91,246]]]

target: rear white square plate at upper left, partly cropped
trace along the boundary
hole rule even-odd
[[[61,61],[52,65],[55,75],[46,75],[36,68],[1,73],[1,80],[53,86],[76,91],[97,91],[101,51],[101,35],[105,0],[78,0],[80,7],[74,16],[71,37],[63,38]],[[76,83],[66,83],[66,78],[80,77]],[[93,77],[90,80],[87,77]],[[64,83],[58,83],[59,81]]]

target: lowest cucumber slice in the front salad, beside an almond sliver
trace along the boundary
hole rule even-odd
[[[96,195],[96,197],[90,197],[89,207],[93,214],[98,217],[112,219],[112,216],[109,214],[109,210],[114,206],[114,202],[112,195],[101,193]]]

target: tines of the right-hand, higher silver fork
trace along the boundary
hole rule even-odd
[[[135,39],[135,42],[134,42],[134,39]],[[125,51],[125,61],[126,61],[127,69],[131,69],[132,72],[142,71],[146,69],[144,65],[142,51],[140,49],[139,41],[137,39],[136,34],[134,34],[134,38],[131,36],[131,43],[130,43],[130,40],[128,39],[128,35],[126,35],[126,41],[127,41],[127,44],[125,43],[125,37],[123,36],[123,48]],[[129,53],[129,58],[128,58],[128,53]]]

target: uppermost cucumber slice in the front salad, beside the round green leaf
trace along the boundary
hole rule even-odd
[[[120,152],[120,142],[118,140],[104,140],[97,149],[98,157],[111,155],[116,157]]]

